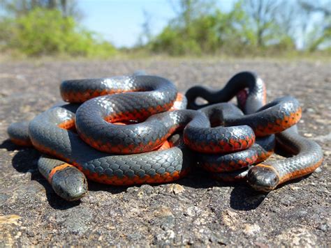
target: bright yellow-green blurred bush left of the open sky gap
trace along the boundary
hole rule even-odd
[[[73,16],[64,16],[57,8],[36,6],[0,22],[2,49],[27,56],[61,55],[106,57],[116,49],[95,33],[78,25]]]

